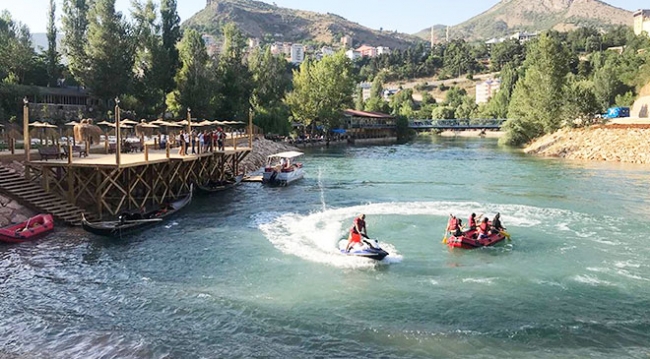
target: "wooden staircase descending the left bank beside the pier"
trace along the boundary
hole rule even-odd
[[[0,193],[32,210],[50,213],[56,220],[71,226],[81,225],[82,213],[86,218],[94,218],[81,208],[52,193],[45,192],[37,184],[27,181],[23,176],[3,166],[0,166]]]

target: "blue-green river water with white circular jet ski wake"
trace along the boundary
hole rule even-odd
[[[650,356],[648,167],[428,137],[304,163],[141,235],[1,246],[0,356]],[[442,245],[471,212],[500,212],[512,241]],[[360,213],[382,262],[336,251]]]

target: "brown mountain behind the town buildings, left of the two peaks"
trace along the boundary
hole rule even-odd
[[[245,36],[266,41],[338,44],[344,35],[355,46],[406,48],[421,40],[396,32],[372,30],[335,14],[293,10],[253,0],[207,0],[207,6],[183,23],[203,33],[219,35],[233,22]]]

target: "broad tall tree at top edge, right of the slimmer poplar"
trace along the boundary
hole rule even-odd
[[[95,0],[88,11],[87,68],[82,83],[98,99],[112,100],[126,93],[133,68],[133,48],[115,0]]]

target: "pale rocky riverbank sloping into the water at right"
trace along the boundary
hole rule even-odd
[[[590,161],[650,164],[650,125],[562,129],[534,141],[528,154]]]

